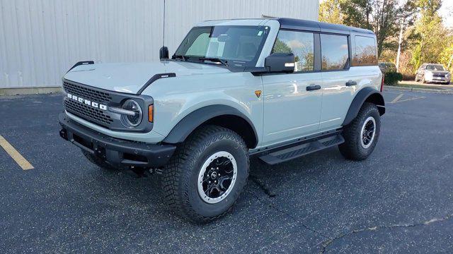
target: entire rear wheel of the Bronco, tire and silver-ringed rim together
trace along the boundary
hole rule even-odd
[[[338,146],[341,155],[352,160],[367,159],[376,147],[380,131],[381,120],[377,106],[365,102],[355,119],[345,126],[345,143]]]

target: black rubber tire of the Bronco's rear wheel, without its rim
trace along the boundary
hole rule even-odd
[[[371,145],[369,147],[364,148],[362,147],[362,126],[364,126],[365,121],[369,117],[374,118],[376,131],[374,134],[374,139],[372,140]],[[375,104],[365,102],[362,105],[362,108],[359,111],[359,114],[355,117],[355,119],[345,126],[343,130],[343,138],[345,138],[345,143],[338,145],[340,149],[341,155],[346,159],[352,159],[356,161],[360,161],[363,159],[367,159],[369,155],[376,147],[377,141],[379,140],[379,133],[381,130],[381,121],[379,116],[379,110]]]

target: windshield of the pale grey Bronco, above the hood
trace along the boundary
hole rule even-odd
[[[243,25],[195,27],[172,58],[200,63],[226,63],[236,67],[256,66],[268,30],[268,27]]]

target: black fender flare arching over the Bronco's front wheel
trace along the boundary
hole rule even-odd
[[[190,133],[192,133],[198,126],[201,126],[203,123],[206,123],[214,117],[228,115],[239,116],[248,123],[253,130],[253,134],[255,135],[254,138],[256,141],[253,145],[256,145],[256,143],[258,143],[258,134],[256,133],[256,128],[253,126],[252,121],[238,109],[226,105],[211,105],[202,107],[200,109],[196,109],[187,116],[184,116],[184,118],[173,127],[170,133],[168,133],[163,142],[170,144],[182,143],[185,138],[187,138],[188,135],[190,135]]]

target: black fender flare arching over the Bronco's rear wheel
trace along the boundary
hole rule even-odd
[[[367,101],[373,102],[377,105],[381,116],[385,114],[385,102],[384,97],[382,97],[382,93],[372,87],[365,87],[357,92],[357,95],[355,95],[354,99],[352,99],[348,109],[348,114],[346,114],[345,120],[341,126],[347,126],[351,123],[357,114],[359,114],[362,105]]]

